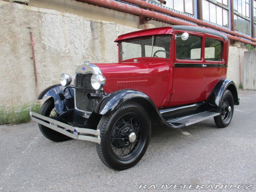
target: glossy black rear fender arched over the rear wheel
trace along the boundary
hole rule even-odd
[[[236,90],[236,85],[235,85],[234,81],[232,81],[230,79],[220,79],[219,80],[219,82],[215,85],[212,93],[210,94],[210,96],[207,100],[208,103],[219,109],[222,95],[224,94],[225,90],[227,90],[227,89],[230,90],[233,95],[234,105],[239,105],[238,92]]]

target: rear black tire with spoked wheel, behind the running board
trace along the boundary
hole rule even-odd
[[[234,99],[229,90],[226,90],[220,102],[220,115],[214,117],[214,122],[219,128],[229,125],[234,113]]]

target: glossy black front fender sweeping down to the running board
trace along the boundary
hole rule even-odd
[[[128,101],[137,102],[144,107],[148,112],[151,121],[164,123],[171,128],[177,128],[177,126],[175,127],[175,125],[167,123],[151,98],[138,90],[123,89],[114,91],[102,98],[95,107],[94,112],[101,115],[109,115],[114,113],[123,103]]]

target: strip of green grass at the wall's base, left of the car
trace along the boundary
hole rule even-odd
[[[37,104],[24,105],[19,107],[17,110],[14,108],[5,110],[3,107],[0,107],[0,125],[19,124],[30,121],[29,107],[31,107],[34,112],[38,112],[40,108]]]

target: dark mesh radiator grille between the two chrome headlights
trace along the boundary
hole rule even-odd
[[[91,76],[92,73],[82,74],[78,73],[75,76],[75,87],[78,89],[75,90],[75,101],[76,101],[76,108],[92,112],[94,111],[98,100],[97,99],[87,99],[87,94],[97,94],[98,91],[94,90],[91,86]],[[83,88],[83,89],[79,89]]]

